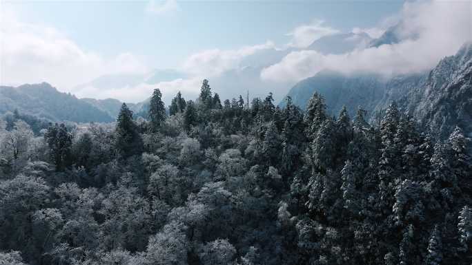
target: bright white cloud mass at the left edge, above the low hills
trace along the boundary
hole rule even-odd
[[[59,30],[23,23],[12,10],[1,11],[0,83],[21,85],[46,81],[62,91],[104,74],[144,73],[148,67],[124,52],[106,59],[83,50]],[[88,96],[94,96],[93,93]]]

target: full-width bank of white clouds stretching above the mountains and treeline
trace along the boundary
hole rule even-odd
[[[178,10],[173,0],[149,2],[148,14],[170,14]],[[122,52],[105,58],[83,49],[66,34],[47,25],[23,23],[10,10],[2,10],[0,23],[0,83],[21,85],[46,81],[61,91],[79,97],[117,98],[126,102],[144,100],[159,87],[164,100],[170,102],[177,91],[195,98],[203,78],[215,84],[223,98],[244,94],[260,96],[269,91],[282,97],[297,81],[321,70],[344,74],[375,72],[386,76],[429,70],[444,56],[454,54],[460,45],[472,39],[472,3],[470,1],[406,2],[402,11],[386,17],[371,28],[353,28],[355,34],[381,36],[392,25],[400,42],[379,47],[357,47],[344,54],[306,50],[313,41],[340,33],[340,30],[314,21],[299,25],[287,35],[287,43],[272,41],[230,50],[211,49],[191,54],[181,62],[181,78],[149,84],[153,73],[139,56]],[[78,84],[104,76],[118,76],[108,87]],[[130,82],[121,82],[132,77]],[[142,81],[140,81],[142,80]],[[90,83],[89,83],[90,84]],[[111,83],[110,83],[111,84]],[[212,85],[213,87],[213,85]]]

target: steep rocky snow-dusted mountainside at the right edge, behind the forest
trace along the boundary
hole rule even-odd
[[[436,134],[445,137],[458,125],[472,136],[472,43],[442,59],[403,100],[421,125]]]

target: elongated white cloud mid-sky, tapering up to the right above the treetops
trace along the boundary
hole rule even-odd
[[[264,44],[246,46],[237,50],[204,50],[189,56],[184,61],[182,69],[193,76],[216,76],[227,70],[239,67],[239,63],[246,56],[273,48],[275,48],[275,44],[267,41]]]

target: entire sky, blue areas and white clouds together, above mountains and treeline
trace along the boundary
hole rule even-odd
[[[251,77],[257,80],[248,79],[259,84],[254,89],[282,87],[284,93],[326,68],[426,70],[471,39],[471,17],[471,1],[0,1],[0,83],[46,81],[79,97],[137,102],[155,87],[164,98],[177,90],[195,96],[201,79],[224,84],[246,76],[222,76],[250,66],[257,68]],[[375,39],[399,21],[402,43],[344,54],[308,47],[348,32]],[[418,50],[424,45],[431,47]],[[268,51],[279,55],[268,60]],[[266,65],[248,63],[255,56]],[[100,76],[136,79],[155,70],[181,76],[153,84],[90,85]]]

